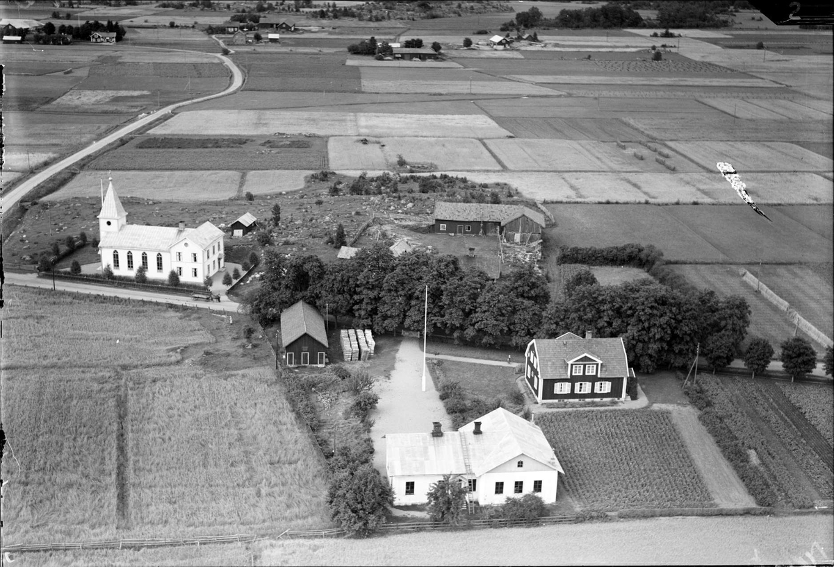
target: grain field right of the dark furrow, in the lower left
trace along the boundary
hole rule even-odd
[[[133,528],[257,533],[327,524],[324,464],[274,371],[178,367],[127,380]]]

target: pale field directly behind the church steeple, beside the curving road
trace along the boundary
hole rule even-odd
[[[85,171],[73,177],[71,182],[58,191],[44,197],[44,200],[60,201],[75,196],[99,196],[102,183],[107,185],[107,178],[110,176],[113,177],[113,183],[122,197],[135,196],[153,201],[219,201],[229,199],[238,193],[240,175],[240,172],[211,170]]]

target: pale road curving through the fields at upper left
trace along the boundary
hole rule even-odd
[[[214,37],[216,41],[219,40]],[[220,43],[223,46],[223,43]],[[170,49],[166,51],[184,51],[190,53],[188,50],[183,49]],[[203,53],[203,52],[201,52]],[[83,150],[79,152],[75,152],[72,156],[65,157],[60,162],[53,163],[53,165],[46,167],[43,171],[36,173],[32,177],[29,177],[26,181],[22,182],[18,187],[15,187],[12,191],[8,191],[7,194],[3,195],[2,204],[0,204],[0,213],[3,212],[3,207],[13,206],[15,203],[20,201],[29,191],[32,191],[33,188],[38,187],[39,184],[45,182],[49,177],[53,177],[58,172],[61,172],[63,169],[70,167],[73,163],[78,162],[79,160],[83,159],[84,157],[88,157],[93,152],[98,152],[98,150],[102,147],[106,147],[108,144],[115,142],[121,137],[127,136],[129,133],[138,130],[139,128],[145,127],[151,122],[158,120],[159,117],[162,117],[166,114],[170,114],[174,110],[178,109],[179,107],[184,107],[189,104],[194,104],[195,102],[203,102],[208,101],[213,98],[218,97],[225,97],[226,95],[232,94],[236,92],[240,87],[244,85],[244,73],[239,69],[238,66],[232,62],[229,57],[225,57],[224,55],[219,55],[218,53],[206,53],[206,55],[214,55],[214,57],[218,57],[221,62],[226,67],[229,67],[229,70],[232,72],[232,82],[226,90],[223,92],[218,92],[213,95],[208,95],[206,97],[199,97],[193,98],[188,101],[182,102],[175,102],[168,107],[164,107],[159,109],[157,112],[153,112],[153,114],[148,115],[147,117],[139,118],[138,120],[127,124],[115,132],[111,132],[108,136],[103,137],[101,140],[97,140],[93,142],[90,146],[85,147]]]

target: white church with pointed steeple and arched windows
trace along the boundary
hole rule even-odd
[[[116,276],[134,276],[144,266],[155,280],[176,270],[180,281],[202,284],[224,269],[224,232],[212,223],[197,228],[186,228],[182,221],[179,226],[128,225],[127,217],[110,179],[98,213],[102,270],[110,266]]]

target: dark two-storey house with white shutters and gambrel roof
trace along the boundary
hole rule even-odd
[[[525,380],[539,403],[625,400],[628,380],[634,378],[621,338],[565,333],[534,339],[525,351]]]

